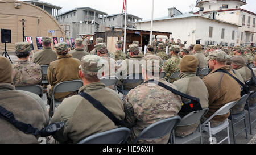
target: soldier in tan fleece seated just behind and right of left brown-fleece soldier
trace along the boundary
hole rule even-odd
[[[80,38],[75,39],[76,48],[72,51],[69,51],[69,54],[71,54],[73,58],[77,58],[78,60],[81,60],[83,56],[89,55],[88,52],[82,49],[84,47],[84,44],[82,44],[82,41],[83,40]]]

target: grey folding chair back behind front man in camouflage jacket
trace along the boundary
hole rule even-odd
[[[139,139],[159,139],[160,137],[166,136],[171,133],[172,130],[180,123],[180,116],[174,116],[172,118],[163,119],[149,125],[144,128],[141,133],[139,133],[134,144],[138,142]]]

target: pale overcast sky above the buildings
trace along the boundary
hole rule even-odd
[[[42,0],[53,5],[62,7],[61,12],[72,10],[76,7],[92,7],[93,9],[106,12],[109,15],[122,12],[123,0]],[[189,5],[196,5],[196,0],[155,0],[154,18],[168,16],[168,8],[176,7],[181,12],[189,12]],[[256,13],[256,0],[247,0],[247,5],[242,9]],[[152,0],[127,0],[127,12],[135,16],[151,19]],[[199,9],[194,7],[193,11]]]

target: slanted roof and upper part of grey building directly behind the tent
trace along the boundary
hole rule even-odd
[[[60,17],[60,10],[62,9],[62,7],[60,7],[60,6],[52,5],[50,3],[43,2],[43,1],[38,1],[38,0],[24,1],[24,2],[31,3],[35,6],[38,6],[38,7],[42,8],[43,10],[46,10],[55,19]]]

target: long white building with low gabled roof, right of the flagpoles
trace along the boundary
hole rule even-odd
[[[169,10],[180,12],[176,8]],[[151,20],[143,20],[135,24],[138,30],[151,29]],[[175,41],[180,39],[181,43],[187,43],[187,45],[199,42],[203,45],[235,45],[236,40],[232,39],[232,32],[238,31],[239,27],[241,26],[231,22],[189,13],[169,14],[166,17],[154,19],[153,23],[153,31],[172,32],[170,37]]]

